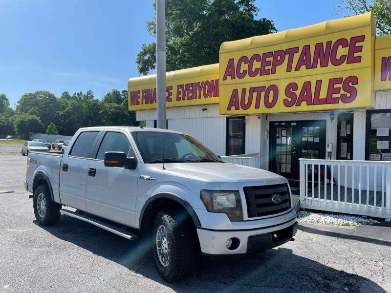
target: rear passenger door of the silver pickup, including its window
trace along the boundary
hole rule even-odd
[[[86,211],[88,162],[99,131],[79,134],[60,166],[60,198],[63,205]]]

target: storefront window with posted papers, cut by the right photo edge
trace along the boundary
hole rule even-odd
[[[367,112],[367,160],[391,161],[391,112]]]

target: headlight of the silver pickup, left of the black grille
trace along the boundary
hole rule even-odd
[[[228,216],[230,221],[242,220],[239,191],[202,189],[200,198],[207,211],[223,212]]]

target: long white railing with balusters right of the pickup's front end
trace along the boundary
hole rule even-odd
[[[300,207],[391,218],[391,162],[300,159]]]

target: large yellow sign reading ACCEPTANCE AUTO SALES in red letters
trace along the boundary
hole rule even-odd
[[[220,114],[267,114],[373,106],[371,13],[224,42]]]

